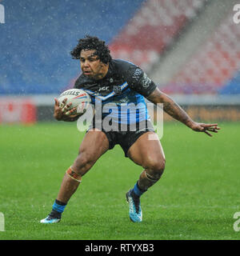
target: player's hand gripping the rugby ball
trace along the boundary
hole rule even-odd
[[[54,118],[58,121],[74,122],[79,118],[79,114],[76,113],[76,108],[70,110],[71,103],[66,104],[66,98],[62,101],[62,104],[58,102],[57,98],[54,98]]]

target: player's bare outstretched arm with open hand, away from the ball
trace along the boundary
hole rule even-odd
[[[184,123],[186,126],[190,127],[192,130],[204,132],[209,136],[212,136],[210,132],[218,133],[220,128],[218,127],[217,123],[214,124],[206,124],[202,122],[194,122],[190,118],[190,116],[186,113],[186,111],[182,110],[182,107],[178,105],[178,103],[174,102],[172,98],[168,95],[162,93],[157,87],[156,89],[146,97],[150,102],[154,104],[162,103],[163,110],[170,114],[171,117],[178,120],[179,122]]]

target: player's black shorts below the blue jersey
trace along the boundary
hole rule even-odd
[[[130,146],[136,142],[136,140],[146,132],[154,132],[154,127],[152,126],[151,122],[149,120],[145,120],[142,122],[137,122],[136,126],[134,126],[134,129],[130,126],[126,126],[126,131],[121,131],[120,125],[118,126],[118,131],[116,130],[109,130],[106,131],[102,128],[102,132],[106,134],[106,138],[109,141],[109,150],[112,150],[115,145],[120,145],[122,147],[122,150],[124,151],[125,157],[127,158],[127,152],[130,149]],[[88,130],[95,128],[98,126],[95,126],[94,123],[91,124]]]

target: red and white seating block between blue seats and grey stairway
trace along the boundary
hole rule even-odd
[[[144,70],[178,37],[205,0],[148,0],[110,43],[114,58],[123,58]]]

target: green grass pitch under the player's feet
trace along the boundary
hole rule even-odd
[[[65,170],[84,134],[75,123],[0,126],[1,239],[239,239],[239,123],[220,123],[213,138],[178,122],[165,123],[166,170],[142,196],[143,222],[130,222],[125,193],[141,167],[115,146],[83,178],[62,222],[50,212]]]

